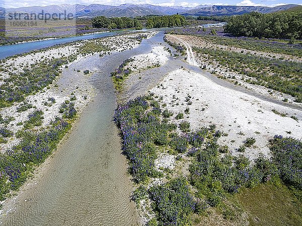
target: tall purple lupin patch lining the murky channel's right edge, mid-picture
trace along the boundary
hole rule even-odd
[[[154,142],[162,142],[165,134],[161,122],[152,111],[147,112],[146,97],[137,97],[119,105],[114,113],[114,121],[123,136],[123,150],[130,160],[130,169],[135,181],[140,182],[155,173],[154,161],[157,157]],[[161,131],[162,132],[162,131]]]

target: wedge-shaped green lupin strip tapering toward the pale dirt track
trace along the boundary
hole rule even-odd
[[[222,66],[256,79],[250,80],[249,83],[289,94],[295,97],[296,102],[302,101],[302,80],[299,77],[302,72],[301,63],[221,49],[196,47],[193,49],[206,55],[209,60],[215,60]]]

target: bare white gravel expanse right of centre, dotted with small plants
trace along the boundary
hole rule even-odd
[[[228,134],[219,140],[219,144],[228,145],[235,156],[242,154],[237,149],[243,141],[254,137],[256,142],[244,152],[251,161],[259,153],[269,155],[268,140],[275,134],[301,138],[300,110],[219,86],[202,74],[187,69],[169,73],[160,86],[150,92],[163,97],[168,110],[175,113],[188,111],[188,114],[184,113],[184,120],[190,122],[193,130],[215,124]],[[275,114],[272,109],[286,116]],[[172,121],[177,122],[177,119]]]

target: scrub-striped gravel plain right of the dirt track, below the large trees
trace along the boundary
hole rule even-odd
[[[197,28],[173,29],[172,34],[184,34],[193,47],[200,67],[235,84],[252,84],[288,94],[294,102],[301,102],[301,45],[282,40],[237,38],[219,32],[211,35]],[[165,39],[184,54],[182,43]],[[293,56],[293,57],[292,57]],[[244,66],[243,66],[244,65]],[[222,73],[223,71],[223,73]],[[219,73],[217,73],[219,72]]]

